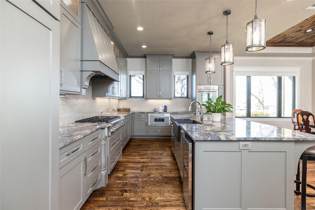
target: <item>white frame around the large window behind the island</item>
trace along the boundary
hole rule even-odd
[[[233,94],[234,94],[234,105],[236,105],[236,76],[247,76],[247,85],[251,85],[250,81],[248,79],[248,76],[277,76],[277,110],[276,115],[272,117],[252,117],[251,116],[251,99],[248,97],[251,92],[247,89],[247,106],[246,106],[246,116],[245,117],[236,117],[235,113],[233,114],[235,118],[249,118],[249,119],[262,119],[262,118],[291,118],[290,117],[282,117],[282,110],[281,110],[281,104],[279,104],[279,99],[281,99],[281,92],[279,92],[279,78],[283,76],[292,76],[294,79],[292,80],[292,110],[295,109],[295,107],[298,107],[297,101],[299,101],[299,90],[300,90],[300,67],[268,67],[268,66],[248,66],[248,67],[233,67]],[[281,100],[280,100],[281,101]],[[235,106],[234,106],[235,107]]]

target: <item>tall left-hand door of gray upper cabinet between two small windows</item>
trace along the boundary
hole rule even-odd
[[[159,71],[148,71],[146,98],[159,98]]]

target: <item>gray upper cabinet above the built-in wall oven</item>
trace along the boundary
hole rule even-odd
[[[206,74],[205,60],[209,58],[209,53],[194,52],[192,56],[192,78],[195,75],[195,85],[224,85],[224,67],[221,65],[220,54],[212,53],[216,58],[216,73]]]

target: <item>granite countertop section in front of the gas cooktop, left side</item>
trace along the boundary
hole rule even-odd
[[[70,123],[59,127],[59,149],[93,133],[95,130],[109,127],[110,123]]]

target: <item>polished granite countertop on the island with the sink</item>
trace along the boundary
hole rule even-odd
[[[172,115],[171,117],[200,121],[200,116]],[[180,126],[193,141],[315,141],[314,134],[237,118],[222,117],[221,122],[204,121],[200,124],[180,124]]]

